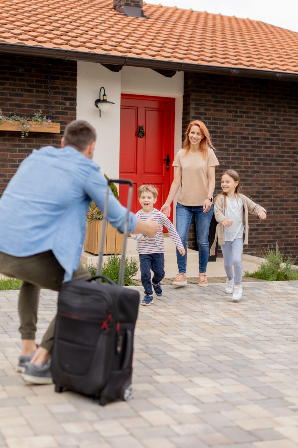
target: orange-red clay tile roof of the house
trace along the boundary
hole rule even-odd
[[[148,19],[116,12],[113,0],[2,0],[0,41],[298,73],[298,33],[191,9],[143,9]]]

